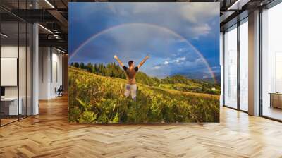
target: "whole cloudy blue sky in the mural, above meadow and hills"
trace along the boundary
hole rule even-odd
[[[210,78],[207,63],[220,72],[219,3],[70,3],[69,54],[69,63],[111,63],[116,54],[125,65],[149,55],[140,69],[148,75]]]

